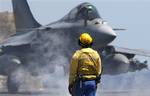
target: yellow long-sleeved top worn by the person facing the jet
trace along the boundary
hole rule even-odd
[[[71,60],[69,84],[75,82],[79,74],[86,79],[95,79],[101,74],[101,59],[97,51],[92,48],[77,50]]]

